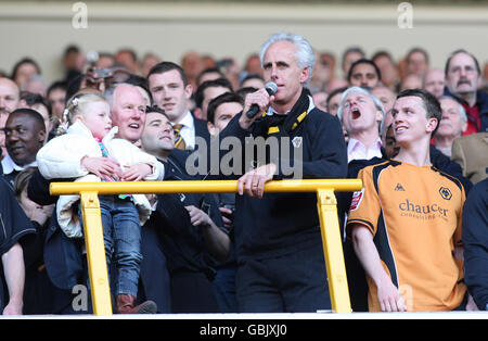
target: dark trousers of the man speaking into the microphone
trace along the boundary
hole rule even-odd
[[[331,310],[321,244],[265,260],[246,260],[236,275],[242,313]]]

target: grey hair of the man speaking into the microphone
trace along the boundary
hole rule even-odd
[[[305,68],[308,67],[309,70],[309,76],[306,83],[310,79],[313,71],[313,66],[316,64],[316,56],[313,54],[313,49],[310,46],[310,42],[308,42],[307,39],[305,39],[303,36],[294,35],[294,34],[287,34],[287,33],[278,33],[272,35],[268,41],[266,41],[261,50],[259,51],[259,60],[261,61],[261,66],[264,66],[265,62],[265,54],[266,51],[268,51],[268,48],[272,46],[274,42],[278,41],[290,41],[293,42],[296,47],[296,63],[298,64],[298,67]]]

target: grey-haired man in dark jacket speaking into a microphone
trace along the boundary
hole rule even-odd
[[[244,313],[330,310],[316,193],[264,193],[272,179],[344,178],[347,151],[338,119],[317,109],[305,88],[314,64],[313,50],[301,36],[275,34],[261,47],[265,89],[249,93],[219,138],[290,139],[265,148],[267,162],[242,163],[234,219],[239,262],[236,296]],[[275,85],[272,85],[273,83]],[[300,157],[294,151],[300,150]],[[243,154],[244,154],[244,148]],[[259,154],[257,151],[256,154]],[[278,155],[269,157],[269,155]],[[290,155],[282,160],[282,155]],[[243,155],[243,160],[244,160]]]

